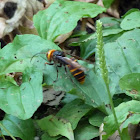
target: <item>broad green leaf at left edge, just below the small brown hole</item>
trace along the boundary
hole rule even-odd
[[[43,100],[42,72],[35,68],[26,68],[21,86],[0,79],[0,108],[7,114],[20,119],[30,118]]]

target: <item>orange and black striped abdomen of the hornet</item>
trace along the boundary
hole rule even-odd
[[[68,68],[71,74],[76,78],[77,81],[80,82],[80,84],[85,82],[85,73],[81,68],[72,67],[70,65],[68,65]]]

